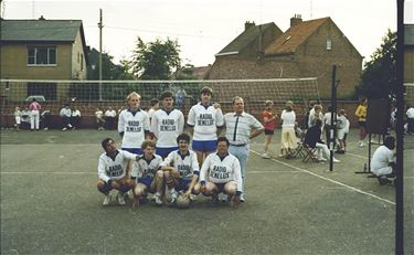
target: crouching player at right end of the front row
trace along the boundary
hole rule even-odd
[[[233,206],[240,204],[242,194],[242,172],[236,157],[229,153],[229,140],[225,137],[217,139],[217,152],[206,157],[200,171],[201,192],[219,201],[219,193],[231,195]]]

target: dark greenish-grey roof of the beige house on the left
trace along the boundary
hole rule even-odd
[[[73,42],[79,29],[81,20],[2,20],[1,40]]]

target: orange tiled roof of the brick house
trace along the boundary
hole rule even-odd
[[[293,53],[304,43],[323,22],[330,18],[304,21],[289,28],[275,42],[265,49],[265,55]]]

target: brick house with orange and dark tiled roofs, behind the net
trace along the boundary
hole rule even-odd
[[[290,19],[282,32],[274,23],[245,30],[215,55],[210,79],[318,77],[319,93],[329,98],[331,70],[337,65],[338,96],[354,92],[362,70],[362,56],[335,22],[328,18]]]

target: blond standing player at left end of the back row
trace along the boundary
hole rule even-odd
[[[141,155],[141,144],[149,136],[148,114],[139,108],[141,96],[132,92],[127,96],[128,109],[119,114],[118,132],[123,137],[123,150]]]

